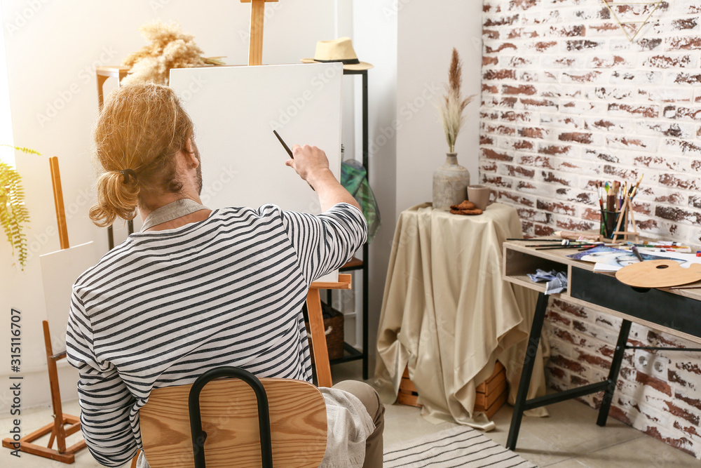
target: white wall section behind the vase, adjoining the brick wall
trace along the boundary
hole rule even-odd
[[[431,201],[433,171],[448,145],[435,106],[448,81],[451,51],[463,61],[463,95],[476,94],[458,135],[458,163],[479,183],[479,93],[482,69],[482,2],[398,2],[397,15],[397,213]]]

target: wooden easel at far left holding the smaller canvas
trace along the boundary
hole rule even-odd
[[[61,189],[61,175],[58,171],[58,158],[49,159],[51,167],[51,182],[53,184],[53,200],[56,208],[56,219],[58,222],[58,238],[61,249],[69,248],[68,229],[66,227],[66,212],[63,207],[63,192]],[[63,413],[61,406],[61,391],[58,382],[57,361],[66,357],[66,352],[54,354],[51,346],[51,334],[48,328],[48,321],[41,322],[43,325],[44,347],[46,347],[46,363],[48,365],[48,380],[51,388],[51,406],[53,407],[53,422],[27,434],[19,441],[14,439],[3,439],[2,445],[6,448],[16,449],[19,442],[19,449],[22,452],[32,453],[40,457],[50,458],[62,463],[71,464],[75,462],[75,453],[86,447],[86,441],[81,440],[70,447],[66,447],[66,437],[78,432],[81,429],[79,417]],[[46,434],[51,434],[46,447],[34,443],[36,439]],[[51,448],[56,441],[55,449]]]

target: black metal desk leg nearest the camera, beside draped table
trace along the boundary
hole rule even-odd
[[[506,448],[515,450],[516,441],[519,438],[519,429],[521,420],[524,415],[524,406],[526,404],[526,396],[531,385],[531,375],[533,374],[533,365],[536,361],[538,346],[540,345],[540,333],[543,331],[543,321],[545,321],[545,311],[547,310],[548,297],[545,293],[538,294],[538,304],[536,305],[536,313],[533,315],[533,325],[531,325],[531,335],[529,336],[528,347],[526,348],[526,356],[524,357],[524,367],[521,371],[521,382],[519,383],[519,392],[516,394],[516,402],[514,405],[514,414],[511,417],[511,427],[509,429],[509,437],[506,440]]]

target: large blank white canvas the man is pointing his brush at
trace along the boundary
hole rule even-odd
[[[341,177],[340,63],[170,70],[170,87],[195,125],[202,202],[209,208],[274,203],[320,213],[318,196],[290,167],[287,145],[326,152]],[[338,273],[320,281],[338,281]]]

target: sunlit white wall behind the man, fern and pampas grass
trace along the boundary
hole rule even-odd
[[[93,201],[89,149],[90,126],[97,114],[95,65],[119,65],[126,55],[145,45],[139,26],[158,18],[179,20],[205,55],[226,55],[227,63],[245,65],[250,4],[231,0],[4,0],[1,8],[14,143],[43,153],[16,154],[32,218],[27,232],[32,258],[24,272],[10,266],[10,246],[0,241],[0,309],[4,317],[10,307],[22,311],[22,404],[29,407],[49,400],[41,334],[46,308],[37,257],[58,250],[59,242],[47,156],[60,160],[71,244],[95,241],[100,252],[107,250],[104,229],[94,227],[87,217]],[[266,10],[265,63],[297,63],[313,56],[316,41],[334,37],[332,1],[283,0],[268,4]],[[119,233],[116,241],[124,236]],[[8,327],[6,319],[0,328]],[[9,347],[3,347],[0,362],[9,363],[9,359]],[[0,366],[0,378],[4,380],[8,371],[8,364]],[[72,369],[64,369],[64,399],[76,397],[74,383]],[[0,392],[0,411],[8,402],[8,392]]]

